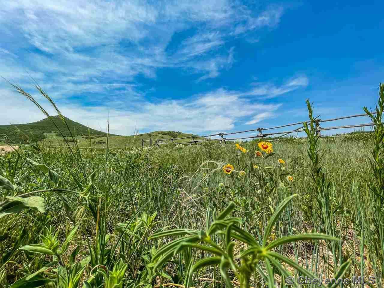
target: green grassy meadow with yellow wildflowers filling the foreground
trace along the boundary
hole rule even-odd
[[[1,156],[0,286],[382,287],[384,85],[361,136],[319,139],[307,105],[308,139]]]

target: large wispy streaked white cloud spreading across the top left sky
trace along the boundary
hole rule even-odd
[[[203,73],[201,81],[230,67],[233,49],[217,49],[232,39],[233,31],[240,35],[276,25],[282,11],[269,8],[253,15],[229,0],[16,0],[0,7],[0,38],[9,39],[7,49],[0,49],[22,54],[19,67],[47,76],[55,72],[79,81],[111,75],[132,80],[137,74],[154,78],[157,68],[178,67]],[[200,28],[169,53],[174,34],[191,27]],[[8,60],[5,66],[16,64]]]

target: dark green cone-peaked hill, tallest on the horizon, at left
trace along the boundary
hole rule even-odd
[[[59,116],[51,116],[51,119],[53,122],[55,122],[64,136],[70,135],[68,128]],[[0,139],[2,139],[4,136],[7,136],[11,140],[10,142],[27,143],[28,141],[36,142],[47,138],[53,139],[56,137],[61,137],[60,132],[52,123],[51,119],[45,118],[43,120],[27,124],[0,125]],[[77,136],[88,136],[88,134],[90,134],[91,137],[95,138],[106,136],[105,132],[88,128],[87,126],[72,121],[69,118],[65,118],[65,121],[67,122],[73,135],[76,134]],[[115,134],[110,135],[117,136]]]

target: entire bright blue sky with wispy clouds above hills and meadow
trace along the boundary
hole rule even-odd
[[[55,114],[30,73],[65,116],[116,134],[283,125],[307,98],[321,119],[360,114],[384,81],[382,1],[0,4],[0,76]],[[0,124],[44,118],[5,81],[0,95]]]

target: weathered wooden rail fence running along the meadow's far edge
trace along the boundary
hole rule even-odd
[[[376,114],[376,112],[372,113],[372,114]],[[320,126],[320,123],[324,123],[324,122],[337,121],[337,120],[349,119],[349,118],[355,118],[355,117],[361,117],[361,116],[368,116],[368,114],[357,114],[357,115],[344,116],[344,117],[333,118],[333,119],[325,119],[325,120],[321,120],[321,119],[319,119],[319,116],[317,116],[315,118],[316,134],[318,134],[320,137],[323,137],[323,136],[321,136],[321,131],[328,131],[328,130],[334,130],[334,129],[345,129],[345,128],[369,127],[369,126],[373,126],[374,125],[373,123],[366,123],[366,124],[344,125],[344,126],[333,126],[333,127],[321,127]],[[296,123],[291,123],[291,124],[286,124],[286,125],[281,125],[281,126],[268,127],[268,128],[258,127],[257,129],[238,131],[238,132],[231,132],[231,133],[216,133],[216,134],[210,134],[210,135],[204,135],[204,136],[192,135],[192,136],[180,137],[180,138],[169,138],[169,139],[160,139],[160,140],[156,139],[154,141],[152,141],[152,137],[151,137],[149,140],[142,140],[141,141],[141,146],[142,146],[142,148],[144,148],[144,142],[149,142],[149,146],[157,145],[157,146],[160,147],[160,145],[171,144],[171,143],[174,143],[175,140],[182,140],[182,139],[191,139],[191,140],[190,141],[185,141],[185,142],[177,142],[177,144],[189,144],[189,145],[194,145],[195,144],[195,145],[198,145],[199,142],[205,142],[205,141],[218,141],[219,144],[227,144],[226,141],[242,140],[242,139],[255,139],[255,138],[263,139],[265,137],[270,137],[270,136],[273,136],[273,135],[281,134],[279,136],[274,137],[274,139],[272,139],[272,140],[268,140],[268,141],[276,141],[279,138],[281,138],[283,136],[286,136],[288,134],[291,134],[291,133],[304,132],[303,122],[304,121],[296,122]],[[309,123],[310,121],[305,121],[305,122]],[[298,128],[296,128],[294,130],[291,130],[291,131],[263,133],[264,131],[267,131],[267,130],[273,130],[273,129],[283,128],[283,127],[296,126],[296,125],[300,125],[300,124],[301,124],[301,127],[298,127]],[[247,137],[239,137],[239,138],[233,138],[233,137],[232,138],[227,138],[227,137],[224,137],[224,136],[228,136],[228,135],[234,135],[234,134],[240,134],[240,133],[246,133],[246,132],[253,132],[253,131],[258,131],[259,134],[257,134],[256,136],[247,136]],[[217,136],[219,136],[220,138],[214,138],[214,139],[210,138],[210,137],[217,137]],[[207,139],[207,137],[209,137],[209,138]],[[332,136],[332,137],[334,137],[334,136]],[[204,138],[204,139],[200,139],[200,138]],[[306,138],[306,137],[300,137],[300,138]]]

